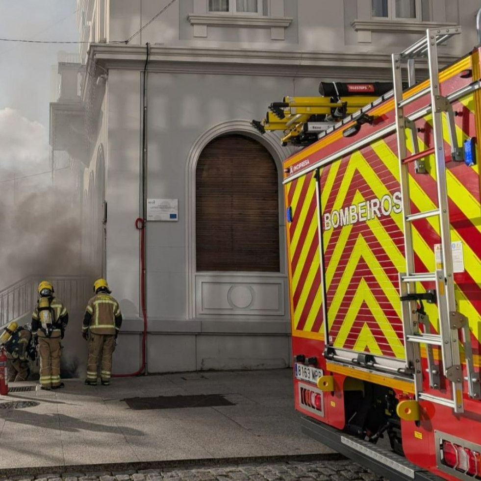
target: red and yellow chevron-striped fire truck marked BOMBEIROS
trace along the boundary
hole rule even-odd
[[[481,48],[437,59],[459,32],[284,161],[296,409],[389,480],[481,480]]]

